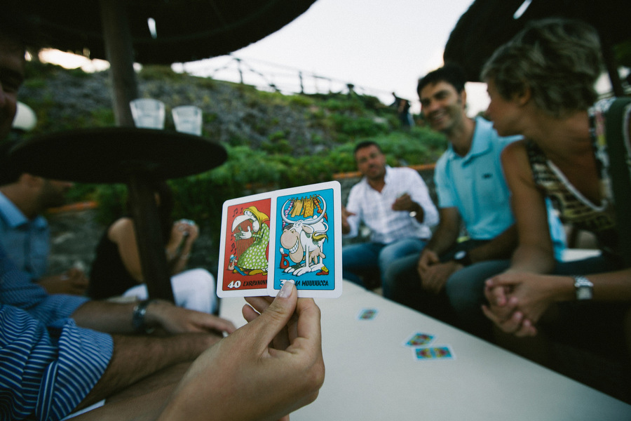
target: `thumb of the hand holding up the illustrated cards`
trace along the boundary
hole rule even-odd
[[[271,305],[254,321],[247,323],[255,332],[255,349],[265,349],[280,330],[287,326],[296,309],[298,292],[293,281],[285,281]]]

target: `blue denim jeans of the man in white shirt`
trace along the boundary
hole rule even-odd
[[[407,255],[418,258],[426,243],[425,240],[409,238],[390,244],[359,243],[345,246],[342,248],[344,279],[365,286],[360,276],[377,272],[380,274],[381,285],[385,286],[390,265]]]

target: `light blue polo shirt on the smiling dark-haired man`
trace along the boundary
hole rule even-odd
[[[510,190],[506,184],[501,153],[521,136],[503,138],[493,123],[477,117],[468,154],[459,156],[452,145],[435,166],[434,182],[439,208],[458,208],[468,235],[475,240],[491,240],[515,223],[510,209]],[[548,204],[550,237],[555,256],[565,248],[565,231]]]

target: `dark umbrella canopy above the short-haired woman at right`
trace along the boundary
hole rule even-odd
[[[516,17],[518,10],[522,14]],[[475,0],[449,36],[443,58],[445,62],[459,63],[469,81],[480,81],[484,62],[529,20],[575,18],[590,23],[599,32],[604,59],[616,88],[611,46],[631,39],[630,16],[628,0]]]

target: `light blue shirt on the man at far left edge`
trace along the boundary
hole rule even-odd
[[[46,274],[50,251],[48,222],[42,216],[29,220],[0,193],[0,244],[18,269],[32,279]]]

